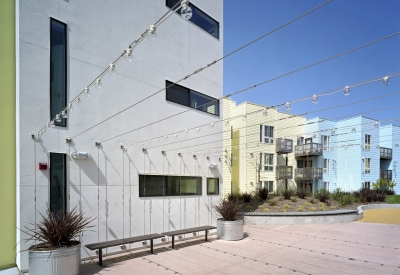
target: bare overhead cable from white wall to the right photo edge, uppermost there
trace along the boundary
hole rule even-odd
[[[285,74],[283,74],[283,75],[280,75],[280,76],[271,78],[271,79],[269,79],[269,80],[260,82],[260,83],[258,83],[258,84],[249,86],[249,87],[247,87],[247,88],[245,88],[245,89],[242,89],[242,90],[239,90],[239,91],[237,91],[237,92],[228,94],[228,95],[226,95],[226,96],[224,96],[224,97],[221,97],[221,98],[219,98],[219,99],[216,99],[216,100],[214,100],[214,101],[212,101],[212,102],[217,102],[217,101],[219,101],[220,99],[227,98],[227,97],[232,97],[233,95],[237,95],[237,94],[239,94],[239,93],[243,93],[243,92],[249,91],[249,90],[251,90],[251,89],[254,89],[254,88],[259,87],[259,86],[261,86],[261,85],[267,84],[267,83],[272,82],[272,81],[274,81],[274,80],[280,79],[280,78],[282,78],[282,77],[286,77],[286,76],[291,75],[291,74],[294,74],[294,73],[296,73],[296,72],[300,72],[300,71],[303,71],[303,70],[305,70],[305,69],[311,68],[311,67],[313,67],[313,66],[322,64],[322,63],[327,62],[327,61],[330,61],[330,60],[332,60],[332,59],[335,59],[335,58],[344,56],[344,55],[346,55],[346,54],[349,54],[349,53],[352,53],[352,52],[354,52],[354,51],[357,51],[357,50],[363,49],[363,48],[365,48],[365,47],[371,46],[371,45],[373,45],[373,44],[376,44],[376,43],[378,43],[378,42],[381,42],[381,41],[384,41],[384,40],[386,40],[386,39],[392,38],[392,37],[394,37],[394,36],[396,36],[396,35],[399,35],[399,34],[400,34],[400,32],[396,32],[396,33],[394,33],[394,34],[391,34],[391,35],[382,37],[382,38],[380,38],[380,39],[378,39],[378,40],[374,40],[374,41],[369,42],[369,43],[367,43],[367,44],[364,44],[364,45],[362,45],[362,46],[353,48],[353,49],[351,49],[351,50],[348,50],[348,51],[342,52],[342,53],[340,53],[340,54],[331,56],[331,57],[326,58],[326,59],[323,59],[323,60],[321,60],[321,61],[312,63],[312,64],[307,65],[307,66],[305,66],[305,67],[302,67],[302,68],[300,68],[300,69],[296,69],[296,70],[294,70],[294,71],[285,73]],[[169,87],[167,87],[167,88],[169,88]],[[165,88],[165,89],[167,89],[167,88]],[[165,90],[165,89],[164,89],[164,90]],[[206,104],[210,104],[210,102],[205,103],[205,104],[203,104],[203,105],[206,105]],[[197,106],[197,107],[201,107],[201,106],[203,106],[203,105],[200,105],[200,106]],[[281,104],[281,105],[284,105],[284,104]],[[278,105],[278,106],[281,106],[281,105]],[[187,113],[187,112],[189,112],[189,111],[192,111],[192,110],[191,110],[191,109],[187,109],[187,110],[185,110],[185,111],[182,111],[182,112],[173,114],[173,115],[168,116],[168,117],[165,117],[165,118],[163,118],[163,119],[160,119],[160,120],[151,122],[151,123],[149,123],[149,124],[143,125],[143,126],[141,126],[141,127],[135,128],[135,129],[133,129],[133,130],[124,132],[124,133],[122,133],[122,134],[113,136],[113,137],[108,138],[108,139],[105,139],[105,140],[103,140],[102,142],[107,142],[107,141],[113,140],[113,139],[118,138],[118,137],[121,137],[121,136],[123,136],[123,135],[126,135],[126,134],[129,134],[129,133],[135,132],[135,131],[137,131],[137,130],[146,128],[146,127],[148,127],[148,126],[157,124],[157,123],[159,123],[159,122],[161,122],[161,121],[165,121],[165,120],[167,120],[167,119],[170,119],[170,118],[179,116],[179,115],[181,115],[181,114]],[[108,119],[107,119],[107,120],[108,120]],[[103,121],[103,122],[104,122],[104,121]],[[102,122],[100,122],[100,124],[101,124],[101,123],[102,123]],[[97,124],[97,125],[99,125],[99,124]],[[95,126],[96,126],[96,125],[95,125]],[[93,126],[93,127],[95,127],[95,126]],[[73,138],[75,138],[75,137],[77,137],[77,136],[83,134],[84,132],[89,131],[89,130],[92,129],[93,127],[90,127],[90,128],[88,128],[87,130],[85,130],[85,131],[83,131],[83,132],[81,132],[81,133],[75,135]]]

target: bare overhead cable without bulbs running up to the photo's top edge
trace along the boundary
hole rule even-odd
[[[262,40],[263,38],[265,38],[265,37],[267,37],[267,36],[273,34],[274,32],[276,32],[276,31],[278,31],[278,30],[280,30],[280,29],[282,29],[282,28],[284,28],[284,27],[286,27],[286,26],[292,24],[293,22],[295,22],[295,21],[297,21],[297,20],[299,20],[299,19],[305,17],[306,15],[308,15],[308,14],[310,14],[310,13],[312,13],[312,12],[318,10],[319,8],[321,8],[321,7],[323,7],[323,6],[327,5],[327,4],[329,4],[329,3],[332,2],[332,1],[333,1],[333,0],[328,0],[327,2],[325,2],[325,3],[321,4],[321,5],[319,5],[319,6],[315,7],[315,8],[313,8],[313,9],[311,9],[311,10],[309,10],[309,11],[307,11],[306,13],[304,13],[304,14],[302,14],[302,15],[296,17],[295,19],[290,20],[289,22],[287,22],[287,23],[285,23],[285,24],[279,26],[278,28],[276,28],[276,29],[274,29],[274,30],[272,30],[272,31],[270,31],[270,32],[268,32],[268,33],[266,33],[266,34],[264,34],[264,35],[258,37],[257,39],[255,39],[255,40],[253,40],[253,41],[251,41],[251,42],[249,42],[249,43],[247,43],[247,44],[241,46],[240,48],[238,48],[238,49],[236,49],[236,50],[234,50],[234,51],[232,51],[232,52],[230,52],[230,53],[228,53],[228,54],[222,56],[221,58],[218,58],[218,59],[214,60],[213,62],[207,64],[206,66],[201,67],[201,68],[195,70],[193,73],[186,75],[185,77],[183,77],[183,78],[181,78],[180,80],[178,80],[178,81],[172,83],[172,84],[169,85],[168,87],[162,88],[161,90],[159,90],[159,91],[157,91],[157,92],[155,92],[155,93],[153,93],[153,94],[151,94],[151,95],[149,95],[149,96],[147,96],[147,97],[145,97],[145,98],[139,100],[138,102],[136,102],[136,103],[134,103],[134,104],[128,106],[127,108],[125,108],[125,109],[123,109],[123,110],[121,110],[121,111],[115,113],[114,115],[112,115],[112,116],[106,118],[105,120],[102,120],[102,121],[96,123],[95,125],[93,125],[92,127],[86,129],[85,131],[76,134],[76,135],[73,136],[72,138],[76,138],[76,137],[82,135],[83,133],[85,133],[85,132],[87,132],[87,131],[89,131],[89,130],[91,130],[91,129],[97,127],[97,126],[99,126],[100,124],[102,124],[102,123],[104,123],[104,122],[106,122],[106,121],[108,121],[108,120],[110,120],[110,119],[112,119],[112,118],[118,116],[119,114],[121,114],[121,113],[123,113],[123,112],[129,110],[130,108],[132,108],[132,107],[134,107],[134,106],[136,106],[136,105],[138,105],[138,104],[140,104],[140,103],[146,101],[147,99],[149,99],[149,98],[151,98],[151,97],[153,97],[153,96],[155,96],[155,95],[161,93],[162,91],[164,91],[164,90],[166,90],[166,89],[168,89],[168,88],[170,88],[170,87],[172,87],[172,86],[174,86],[174,85],[176,85],[176,84],[178,84],[178,83],[180,83],[180,82],[182,82],[182,81],[184,81],[184,80],[190,78],[191,76],[193,76],[193,75],[195,75],[195,74],[200,73],[201,71],[203,71],[203,70],[205,70],[205,69],[207,69],[207,68],[213,66],[214,64],[216,64],[216,63],[218,63],[218,62],[220,62],[221,60],[223,60],[223,59],[225,59],[225,58],[227,58],[227,57],[229,57],[229,56],[231,56],[231,55],[237,53],[237,52],[240,51],[240,50],[243,50],[244,48],[247,48],[248,46],[250,46],[250,45],[252,45],[252,44],[254,44],[254,43],[256,43],[256,42]]]

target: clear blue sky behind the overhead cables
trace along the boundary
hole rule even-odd
[[[224,1],[224,54],[283,25],[324,0]],[[306,17],[224,60],[224,95],[400,32],[400,1],[334,0]],[[267,106],[312,96],[400,71],[400,35],[233,96]],[[400,92],[400,76],[292,104],[302,114],[379,95]],[[400,94],[345,108],[310,114],[335,119],[400,105]],[[285,109],[282,109],[286,111]],[[379,120],[400,118],[400,108],[364,114]],[[382,123],[387,124],[387,123]],[[400,125],[400,120],[392,122]]]

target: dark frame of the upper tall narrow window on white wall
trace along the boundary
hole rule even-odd
[[[52,38],[53,38],[53,21],[62,24],[64,26],[64,40],[65,40],[65,52],[64,52],[64,83],[65,83],[65,87],[63,89],[63,93],[64,93],[64,106],[62,108],[64,108],[67,105],[68,102],[68,34],[67,34],[67,24],[64,22],[61,22],[60,20],[57,20],[55,18],[50,17],[50,50],[49,50],[49,91],[50,91],[50,120],[52,120],[56,114],[60,113],[62,111],[62,109],[58,112],[56,112],[56,114],[53,114],[52,112],[52,102],[53,102],[53,90],[52,90]],[[57,122],[54,121],[54,124],[56,126],[59,127],[67,127],[67,118],[61,118],[61,122]]]

